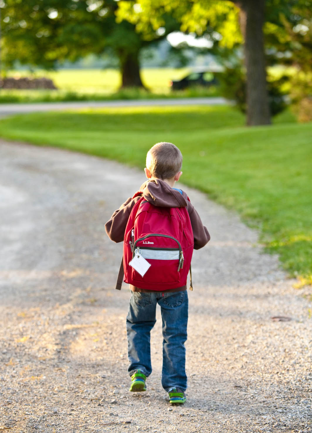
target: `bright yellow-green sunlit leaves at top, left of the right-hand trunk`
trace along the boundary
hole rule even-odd
[[[126,20],[146,40],[154,38],[158,29],[166,34],[180,29],[205,35],[221,47],[233,48],[242,42],[238,25],[238,7],[228,0],[119,0],[117,21]],[[179,23],[179,26],[177,26]]]

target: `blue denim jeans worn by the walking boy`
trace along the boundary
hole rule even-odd
[[[185,346],[187,339],[188,297],[182,292],[132,292],[127,316],[128,357],[130,376],[138,368],[151,374],[151,329],[156,323],[156,306],[161,307],[163,334],[163,367],[161,384],[187,389]]]

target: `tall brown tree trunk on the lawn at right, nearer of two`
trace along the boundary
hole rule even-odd
[[[241,10],[241,32],[245,40],[247,125],[268,125],[270,108],[263,38],[265,0],[240,0],[235,3]]]

